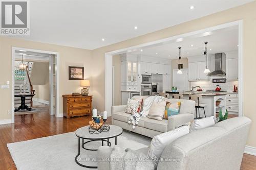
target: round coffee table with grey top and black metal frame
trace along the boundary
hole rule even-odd
[[[101,145],[104,145],[104,141],[107,142],[108,146],[111,146],[111,142],[109,141],[110,138],[115,138],[115,145],[117,144],[117,136],[121,135],[123,133],[123,129],[119,126],[115,126],[115,125],[110,125],[110,131],[108,132],[101,132],[101,133],[97,133],[97,134],[91,134],[89,132],[89,127],[85,126],[82,128],[79,128],[76,130],[76,136],[78,137],[78,154],[75,157],[75,161],[78,165],[83,166],[83,167],[87,167],[87,168],[98,168],[97,166],[87,166],[87,165],[83,165],[81,163],[79,163],[77,161],[77,157],[80,155],[80,139],[82,139],[82,148],[88,151],[97,151],[97,149],[88,149],[84,147],[84,144],[92,142],[92,141],[97,141],[97,140],[101,140]],[[84,139],[88,139],[89,141],[84,142]]]

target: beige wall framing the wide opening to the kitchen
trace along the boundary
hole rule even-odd
[[[191,20],[180,25],[146,34],[140,37],[122,41],[109,46],[93,50],[93,61],[96,68],[95,75],[92,76],[94,97],[100,111],[104,110],[104,53],[119,50],[121,48],[138,45],[150,41],[155,41],[183,33],[188,33],[223,23],[243,19],[244,21],[244,49],[243,49],[243,67],[244,67],[244,115],[252,119],[253,123],[249,132],[247,144],[256,147],[256,108],[254,107],[254,96],[256,91],[256,79],[251,75],[256,72],[256,2],[252,2],[240,7],[225,10],[216,14],[205,16],[199,19]],[[102,83],[99,83],[102,82]]]

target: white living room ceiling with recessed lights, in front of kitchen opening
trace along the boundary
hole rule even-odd
[[[93,50],[252,1],[33,0],[30,36],[16,38]]]

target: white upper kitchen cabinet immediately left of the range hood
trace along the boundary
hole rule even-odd
[[[189,81],[208,81],[207,73],[204,73],[206,61],[188,63]]]

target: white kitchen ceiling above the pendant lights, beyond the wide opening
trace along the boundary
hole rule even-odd
[[[181,47],[181,57],[198,56],[203,55],[204,42],[208,42],[208,54],[238,51],[238,26],[185,37],[180,42],[173,40],[164,45],[145,47],[142,52],[138,50],[132,54],[178,59],[178,47]]]

